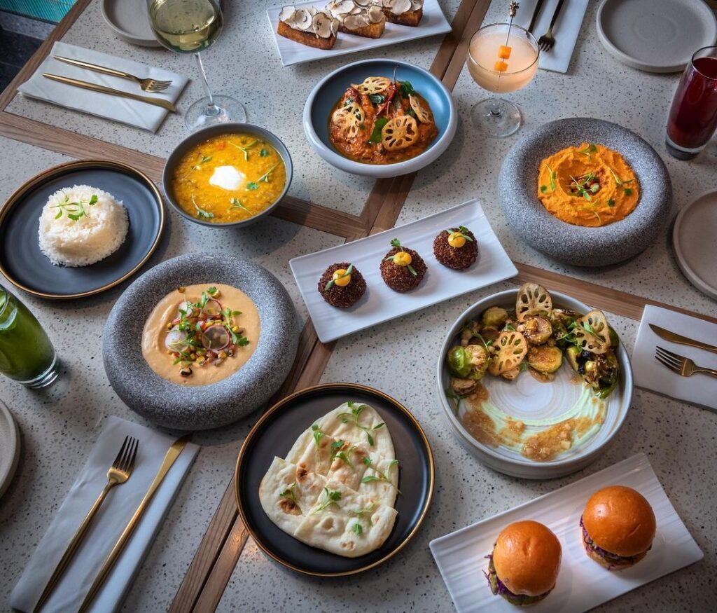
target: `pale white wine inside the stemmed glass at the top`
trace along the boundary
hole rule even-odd
[[[159,42],[179,53],[197,53],[222,31],[217,0],[151,0],[149,21]]]

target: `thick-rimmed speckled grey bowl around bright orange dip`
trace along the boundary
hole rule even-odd
[[[642,195],[625,219],[584,228],[554,217],[536,197],[540,160],[581,142],[619,151],[635,171]],[[644,251],[670,219],[673,202],[670,174],[655,149],[617,123],[582,117],[545,123],[513,145],[500,168],[498,195],[521,240],[575,266],[609,266]]]

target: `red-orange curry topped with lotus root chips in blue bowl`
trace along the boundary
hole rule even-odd
[[[329,139],[364,164],[395,164],[422,154],[438,134],[427,101],[409,81],[369,77],[351,85],[331,111]]]

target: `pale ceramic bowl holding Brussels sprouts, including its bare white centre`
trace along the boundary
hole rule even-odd
[[[571,296],[551,291],[549,287],[547,289],[553,297],[555,306],[572,309],[582,314],[589,312],[590,307],[587,304],[571,298]],[[592,438],[576,444],[572,449],[549,462],[536,462],[505,446],[493,448],[478,442],[465,429],[462,421],[455,416],[454,401],[449,400],[445,395],[445,389],[450,381],[450,373],[448,373],[445,365],[445,355],[450,347],[457,345],[457,338],[465,321],[479,317],[489,306],[505,306],[508,308],[516,304],[517,294],[518,289],[508,289],[498,294],[493,294],[493,296],[486,296],[466,309],[456,319],[446,334],[438,358],[437,391],[440,403],[457,439],[468,451],[492,469],[523,479],[563,477],[586,467],[590,462],[597,459],[602,454],[604,447],[617,434],[622,422],[625,421],[627,411],[630,410],[630,403],[632,402],[632,368],[630,367],[630,357],[628,357],[622,343],[620,343],[616,351],[620,365],[619,382],[608,398],[603,401],[606,405],[604,423]],[[572,369],[567,364],[567,360],[564,359],[561,369],[551,383],[540,383],[530,373],[521,373],[513,381],[487,375],[483,379],[483,383],[488,388],[490,399],[495,406],[503,409],[505,413],[526,420],[544,419],[565,413],[570,406],[573,406],[580,393],[585,390],[584,384],[576,385],[571,381],[572,377]]]

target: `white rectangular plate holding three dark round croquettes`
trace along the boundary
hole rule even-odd
[[[473,232],[478,243],[478,261],[464,271],[446,268],[433,256],[433,240],[437,234],[459,225]],[[381,259],[391,249],[392,238],[417,251],[428,266],[417,289],[404,294],[390,289],[379,271]],[[318,293],[318,280],[326,268],[336,262],[351,262],[366,279],[366,294],[348,309],[331,306]],[[399,228],[294,258],[289,265],[321,342],[336,340],[518,274],[478,200],[469,200]]]

